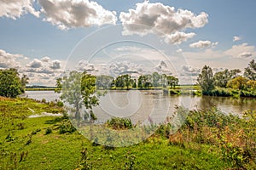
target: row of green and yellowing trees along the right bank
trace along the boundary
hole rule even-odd
[[[212,68],[205,65],[197,78],[202,94],[212,95],[217,88],[232,88],[240,91],[254,93],[256,90],[256,63],[253,59],[244,70],[243,75],[239,69],[218,71],[214,75]]]

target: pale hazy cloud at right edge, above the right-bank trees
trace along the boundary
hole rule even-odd
[[[232,56],[233,58],[241,58],[256,55],[256,51],[254,46],[249,46],[247,43],[242,43],[232,46],[232,48],[226,50],[224,54]]]

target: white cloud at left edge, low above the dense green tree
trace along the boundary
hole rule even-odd
[[[17,59],[22,58],[21,54],[9,54],[0,49],[0,68],[19,68],[20,62]]]

